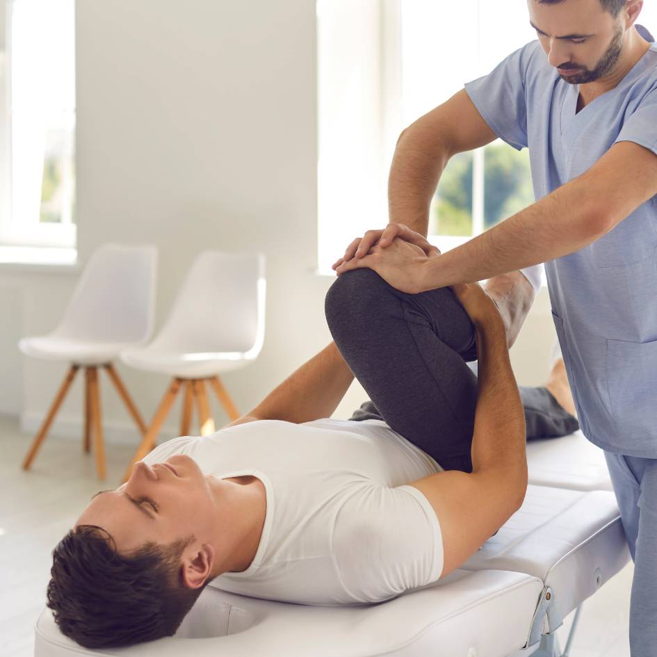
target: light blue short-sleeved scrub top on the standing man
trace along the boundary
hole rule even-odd
[[[578,86],[560,79],[537,41],[465,88],[498,137],[529,148],[536,200],[619,141],[657,154],[655,43],[578,113]],[[545,270],[583,433],[608,451],[657,458],[657,196]]]

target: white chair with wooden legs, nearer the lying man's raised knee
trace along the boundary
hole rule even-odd
[[[185,398],[180,435],[187,435],[196,402],[201,435],[214,432],[204,382],[216,392],[230,419],[239,414],[219,374],[253,362],[265,334],[265,259],[262,254],[204,251],[194,261],[161,331],[147,347],[122,352],[127,365],[170,375],[173,380],[131,461],[156,444],[181,387]]]

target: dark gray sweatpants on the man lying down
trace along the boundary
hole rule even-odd
[[[334,281],[325,299],[333,339],[370,400],[350,418],[382,419],[446,470],[472,469],[477,378],[474,326],[449,288],[400,292],[367,268]],[[579,428],[545,388],[519,387],[527,438]]]

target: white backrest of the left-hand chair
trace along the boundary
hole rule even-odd
[[[51,335],[90,342],[144,343],[153,331],[156,266],[153,245],[105,244],[97,248]]]

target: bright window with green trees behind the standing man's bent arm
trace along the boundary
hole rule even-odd
[[[403,0],[401,6],[405,125],[536,38],[526,7],[515,1],[464,0],[452,17],[440,3]],[[496,140],[448,163],[432,200],[429,234],[446,250],[532,202],[528,152]]]

